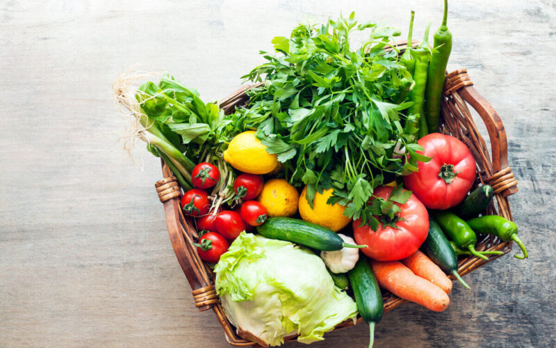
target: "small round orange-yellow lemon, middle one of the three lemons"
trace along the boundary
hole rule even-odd
[[[268,210],[268,216],[292,216],[297,212],[300,194],[295,187],[284,179],[272,179],[265,182],[259,195],[259,202]]]

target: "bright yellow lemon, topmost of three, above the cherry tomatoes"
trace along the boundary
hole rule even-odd
[[[255,131],[247,131],[234,136],[228,149],[224,151],[224,161],[238,171],[250,174],[266,174],[276,168],[276,155],[266,152],[266,146],[255,137]]]

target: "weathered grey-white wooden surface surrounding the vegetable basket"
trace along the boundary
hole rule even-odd
[[[158,159],[140,145],[133,166],[110,133],[113,79],[145,63],[218,99],[302,20],[355,10],[405,32],[410,8],[418,37],[439,26],[440,0],[0,1],[0,346],[227,347],[170,246]],[[444,313],[384,315],[376,347],[555,347],[556,2],[452,0],[449,25],[449,69],[505,122],[530,258],[466,276]],[[360,325],[313,346],[367,340]]]

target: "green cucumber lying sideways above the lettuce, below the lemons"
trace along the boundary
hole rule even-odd
[[[300,219],[273,217],[256,226],[256,231],[263,237],[285,240],[320,251],[336,251],[341,248],[366,248],[347,244],[336,232]]]

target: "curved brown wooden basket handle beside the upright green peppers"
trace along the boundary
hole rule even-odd
[[[473,81],[469,78],[466,69],[458,69],[446,75],[444,94],[451,95],[457,92],[467,104],[481,116],[486,130],[491,139],[493,174],[484,178],[495,193],[507,197],[518,191],[517,180],[508,166],[508,143],[504,124],[496,110],[473,88]]]

